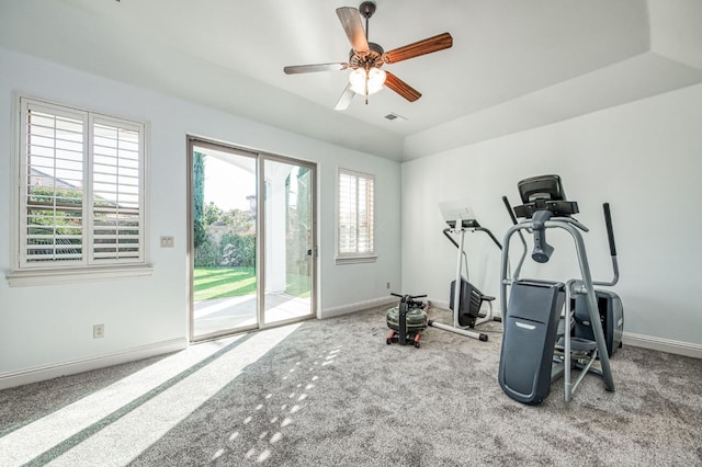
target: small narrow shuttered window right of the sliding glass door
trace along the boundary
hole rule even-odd
[[[374,178],[339,170],[338,251],[339,259],[374,258]]]

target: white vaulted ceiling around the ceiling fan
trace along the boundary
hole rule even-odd
[[[702,0],[376,4],[386,50],[453,36],[385,65],[415,103],[385,89],[338,112],[348,71],[283,73],[348,59],[348,0],[2,0],[0,46],[396,160],[702,82]]]

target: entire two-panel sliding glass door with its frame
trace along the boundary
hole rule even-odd
[[[315,164],[195,138],[189,156],[191,340],[313,317]]]

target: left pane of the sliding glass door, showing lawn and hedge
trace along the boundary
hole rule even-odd
[[[191,338],[258,327],[254,155],[193,144]]]

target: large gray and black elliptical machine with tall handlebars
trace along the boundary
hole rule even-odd
[[[551,383],[564,376],[565,400],[571,399],[582,378],[588,373],[602,376],[607,390],[614,390],[610,367],[610,355],[621,346],[623,310],[619,297],[611,293],[597,292],[596,285],[612,286],[619,281],[619,265],[609,204],[604,204],[604,218],[612,259],[614,277],[610,282],[593,282],[590,275],[581,231],[588,228],[575,220],[578,213],[576,202],[566,201],[561,178],[543,175],[518,183],[522,205],[514,213],[505,201],[514,226],[502,241],[502,265],[500,299],[503,304],[503,335],[500,352],[499,384],[512,399],[524,403],[541,403],[551,390]],[[524,220],[517,223],[514,217]],[[532,259],[546,263],[554,248],[546,242],[546,230],[558,228],[573,237],[580,266],[581,278],[565,283],[522,280],[519,277],[526,257],[526,248],[512,276],[508,272],[510,238],[522,231],[533,235]],[[507,301],[507,288],[510,299]],[[604,306],[598,306],[604,304]],[[565,317],[562,310],[565,306]],[[602,315],[602,310],[604,314]],[[608,337],[603,332],[603,322]],[[599,360],[599,367],[593,366]],[[570,380],[571,368],[580,369],[575,383]]]

